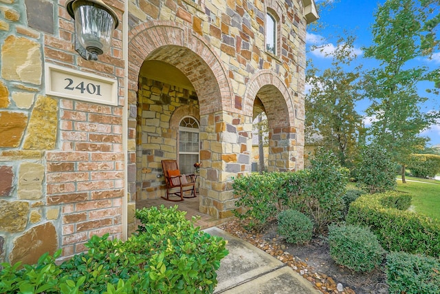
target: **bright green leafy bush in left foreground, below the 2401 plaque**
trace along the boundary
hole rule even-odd
[[[0,293],[212,293],[225,241],[199,231],[185,214],[163,205],[136,211],[139,234],[126,242],[95,235],[87,253],[60,266],[61,251],[23,269],[4,263]]]

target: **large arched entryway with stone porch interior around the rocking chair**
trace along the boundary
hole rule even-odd
[[[197,120],[203,160],[212,140],[208,134],[215,128],[214,113],[234,103],[219,57],[188,28],[155,21],[133,29],[129,37],[129,139],[134,143],[129,151],[129,194],[135,201],[164,193],[161,160],[178,158],[182,118]],[[220,174],[211,157],[204,159],[201,188],[208,174]],[[201,212],[212,207],[206,198],[208,189],[200,189]]]

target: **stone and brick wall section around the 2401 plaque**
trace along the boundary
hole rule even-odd
[[[65,1],[0,0],[0,262],[85,250],[93,234],[122,237],[122,106],[45,94],[45,63],[123,85],[122,35],[110,54],[74,51]],[[122,19],[122,1],[111,6]],[[119,93],[123,94],[120,87]]]

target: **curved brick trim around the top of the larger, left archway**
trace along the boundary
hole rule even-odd
[[[147,21],[129,32],[129,91],[137,91],[137,79],[140,67],[145,60],[154,59],[160,50],[175,52],[185,50],[197,60],[199,67],[191,72],[190,68],[179,68],[194,86],[199,96],[201,114],[209,114],[219,110],[234,110],[232,85],[228,79],[228,71],[221,59],[192,29],[173,21]],[[168,52],[168,60],[162,61],[173,64],[178,62]],[[173,64],[175,65],[175,64]],[[204,81],[197,78],[203,72]]]

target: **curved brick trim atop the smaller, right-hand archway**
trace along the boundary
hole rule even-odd
[[[270,96],[269,96],[270,94]],[[285,83],[270,70],[255,74],[246,87],[244,112],[252,116],[254,101],[259,96],[273,127],[294,127],[294,101]],[[267,98],[265,98],[267,96]],[[270,98],[270,99],[269,99]],[[271,103],[272,105],[268,105]]]

